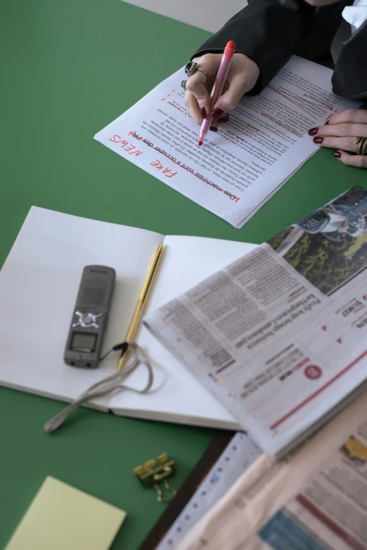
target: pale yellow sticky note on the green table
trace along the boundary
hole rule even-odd
[[[126,512],[48,477],[5,550],[108,550]]]

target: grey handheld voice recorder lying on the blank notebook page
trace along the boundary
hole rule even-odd
[[[67,365],[98,367],[115,280],[116,272],[112,268],[84,268],[67,336],[64,355]]]

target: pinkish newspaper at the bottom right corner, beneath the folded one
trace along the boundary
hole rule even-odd
[[[175,546],[208,548],[366,550],[366,396],[292,457],[262,454]]]

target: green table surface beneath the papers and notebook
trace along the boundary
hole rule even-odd
[[[32,204],[164,234],[259,243],[366,183],[366,171],[321,150],[236,230],[94,141],[208,35],[120,0],[1,1],[0,264]],[[0,388],[0,547],[52,475],[125,509],[112,549],[137,549],[164,507],[133,467],[168,452],[179,487],[213,432],[83,410],[46,436],[42,425],[62,406]]]

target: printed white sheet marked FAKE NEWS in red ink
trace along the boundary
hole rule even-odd
[[[337,98],[332,71],[293,56],[259,96],[245,96],[230,121],[198,130],[184,107],[179,70],[98,132],[96,140],[212,211],[242,225],[317,149],[307,131],[360,103]]]

